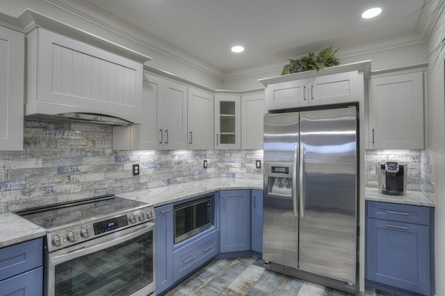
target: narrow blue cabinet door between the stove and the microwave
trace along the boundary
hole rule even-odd
[[[154,208],[156,215],[156,294],[173,284],[173,205]]]

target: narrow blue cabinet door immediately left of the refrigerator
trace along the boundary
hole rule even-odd
[[[252,251],[263,253],[263,190],[252,190]]]

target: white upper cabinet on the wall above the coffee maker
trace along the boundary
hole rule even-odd
[[[370,149],[423,149],[423,72],[369,79]]]

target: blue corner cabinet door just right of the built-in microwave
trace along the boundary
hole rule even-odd
[[[250,250],[250,190],[220,192],[220,252]]]

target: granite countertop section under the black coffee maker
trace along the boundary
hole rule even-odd
[[[365,188],[364,199],[374,202],[392,202],[394,204],[413,204],[415,206],[435,206],[432,200],[428,199],[420,191],[407,190],[406,195],[383,195],[378,192],[378,188]]]

